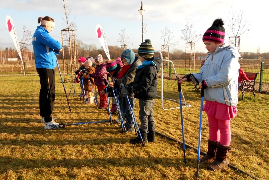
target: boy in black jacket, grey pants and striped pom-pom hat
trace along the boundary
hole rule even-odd
[[[154,49],[149,39],[140,44],[137,54],[142,65],[137,66],[134,82],[129,86],[124,86],[121,93],[135,93],[135,98],[139,99],[140,133],[144,144],[146,144],[148,141],[155,142],[156,130],[152,108],[155,105],[154,98],[157,95],[161,59],[153,56]],[[141,143],[140,136],[138,135],[135,139],[131,139],[130,143]]]

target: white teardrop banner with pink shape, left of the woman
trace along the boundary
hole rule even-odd
[[[14,26],[13,20],[11,19],[11,17],[9,15],[7,15],[7,17],[6,17],[6,25],[7,25],[7,30],[9,32],[10,36],[11,36],[11,39],[13,40],[13,43],[14,43],[16,49],[17,49],[19,57],[22,60],[22,53],[21,53],[21,49],[20,49],[20,46],[19,46],[15,26]],[[23,69],[23,72],[24,72],[24,75],[25,75],[25,69],[24,69],[23,61],[22,61],[22,69]]]

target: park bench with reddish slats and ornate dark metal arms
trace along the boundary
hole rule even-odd
[[[240,89],[242,91],[242,99],[244,99],[244,93],[246,91],[253,92],[253,96],[254,98],[256,98],[254,88],[255,88],[255,81],[259,72],[245,72],[245,74],[249,79],[249,81],[244,80],[240,85]]]

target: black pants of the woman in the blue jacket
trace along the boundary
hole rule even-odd
[[[55,100],[55,71],[54,69],[36,68],[40,78],[39,111],[45,122],[52,120],[51,114]]]

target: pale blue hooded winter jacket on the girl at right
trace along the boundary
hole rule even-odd
[[[204,99],[228,106],[238,103],[238,75],[240,65],[238,49],[232,46],[217,47],[215,52],[207,53],[204,66],[199,73],[192,73],[198,80],[205,80]],[[192,78],[195,82],[195,79]]]

